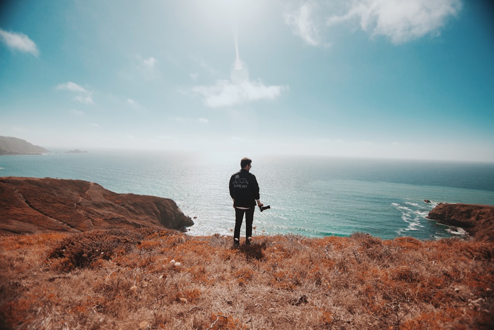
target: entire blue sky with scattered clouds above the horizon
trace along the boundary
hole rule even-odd
[[[45,148],[494,162],[481,0],[0,5],[0,136]]]

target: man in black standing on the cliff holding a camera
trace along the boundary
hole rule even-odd
[[[252,160],[242,158],[241,170],[230,178],[230,196],[233,198],[235,209],[235,232],[233,234],[233,245],[240,244],[240,228],[244,214],[246,215],[246,244],[252,239],[252,222],[254,220],[255,203],[262,207],[264,204],[259,200],[259,185],[255,176],[249,173],[252,168]]]

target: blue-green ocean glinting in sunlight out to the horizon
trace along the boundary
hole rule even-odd
[[[9,155],[0,156],[0,176],[85,180],[171,198],[195,218],[190,235],[233,235],[228,182],[240,159],[165,151]],[[463,233],[426,218],[437,203],[494,205],[493,163],[263,155],[252,166],[261,202],[271,206],[256,209],[254,236],[436,239]]]

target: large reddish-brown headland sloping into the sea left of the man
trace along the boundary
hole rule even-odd
[[[194,225],[168,198],[115,193],[80,180],[0,178],[0,233]]]

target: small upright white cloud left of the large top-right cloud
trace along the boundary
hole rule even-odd
[[[319,46],[320,34],[319,29],[314,22],[315,7],[311,3],[303,3],[297,10],[284,15],[285,23],[287,23],[294,35],[301,37],[307,44],[311,46]]]

